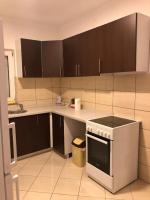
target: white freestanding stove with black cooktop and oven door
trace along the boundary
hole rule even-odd
[[[86,172],[117,192],[137,179],[139,122],[115,116],[86,123]]]

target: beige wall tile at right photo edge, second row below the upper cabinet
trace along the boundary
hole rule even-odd
[[[150,93],[136,93],[135,109],[150,111]]]

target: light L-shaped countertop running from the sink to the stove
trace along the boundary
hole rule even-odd
[[[51,105],[51,106],[28,108],[27,112],[25,113],[9,114],[8,117],[16,118],[16,117],[36,115],[36,114],[42,114],[42,113],[56,113],[56,114],[60,114],[71,119],[81,121],[81,122],[86,122],[87,120],[111,115],[109,113],[101,113],[100,111],[96,111],[96,110],[82,109],[80,111],[76,111],[75,109],[69,108],[68,106]]]

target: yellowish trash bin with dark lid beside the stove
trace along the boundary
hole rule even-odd
[[[85,165],[85,137],[77,137],[72,141],[72,160],[79,167]]]

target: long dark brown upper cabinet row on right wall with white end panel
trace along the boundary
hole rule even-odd
[[[148,72],[149,41],[150,18],[139,13],[65,39],[64,75]]]

